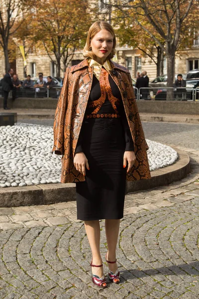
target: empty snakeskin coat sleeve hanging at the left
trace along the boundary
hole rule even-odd
[[[70,68],[67,69],[64,78],[64,84],[57,103],[54,120],[54,145],[52,152],[55,154],[64,154],[64,122],[68,104],[68,74]]]

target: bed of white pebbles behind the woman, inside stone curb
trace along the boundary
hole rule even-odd
[[[150,170],[173,164],[178,153],[147,140]],[[59,183],[61,156],[52,154],[53,128],[17,123],[0,127],[0,187]]]

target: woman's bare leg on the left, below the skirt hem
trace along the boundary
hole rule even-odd
[[[93,265],[99,266],[102,264],[100,256],[100,222],[99,220],[85,221],[85,230],[91,246]],[[103,267],[92,267],[92,273],[103,276]]]

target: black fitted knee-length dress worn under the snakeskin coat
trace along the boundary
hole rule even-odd
[[[123,154],[134,150],[121,94],[110,75],[108,80],[120,118],[85,117],[75,151],[83,151],[90,166],[86,181],[76,183],[77,218],[85,221],[123,217],[127,170],[123,168]],[[89,104],[100,95],[100,82],[94,75],[85,116],[94,111]],[[115,114],[108,96],[99,114]]]

